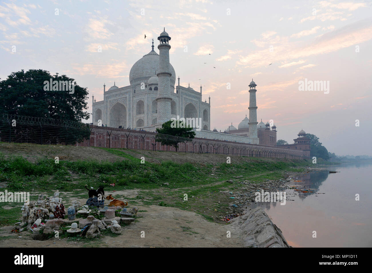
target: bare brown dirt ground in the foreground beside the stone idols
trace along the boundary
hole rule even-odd
[[[36,241],[27,231],[10,234],[12,228],[7,226],[0,228],[0,236],[7,236],[0,240],[0,247],[243,247],[243,234],[232,225],[212,223],[178,208],[152,205],[141,209],[147,211],[139,212],[137,215],[142,217],[122,227],[122,234],[117,237],[105,236],[85,244],[56,238]],[[145,238],[141,238],[141,231]],[[227,231],[231,231],[231,238],[227,238]]]

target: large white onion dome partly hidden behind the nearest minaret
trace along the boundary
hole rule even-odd
[[[170,73],[170,85],[173,86],[176,83],[176,72],[171,64],[169,64]],[[129,82],[132,84],[138,84],[141,82],[147,82],[152,76],[154,76],[155,70],[159,70],[159,54],[154,50],[139,59],[131,68],[129,72]]]

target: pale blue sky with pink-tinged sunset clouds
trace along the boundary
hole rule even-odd
[[[337,155],[372,155],[371,6],[349,0],[0,0],[0,78],[21,69],[65,74],[88,88],[91,112],[92,95],[103,100],[104,83],[129,85],[129,70],[151,51],[152,38],[158,52],[165,27],[180,84],[202,85],[203,101],[211,96],[212,129],[237,127],[249,117],[253,78],[257,119],[272,119],[277,139],[293,143],[304,129]],[[327,89],[301,90],[305,79],[325,81]]]

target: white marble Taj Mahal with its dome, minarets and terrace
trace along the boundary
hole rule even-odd
[[[202,101],[200,92],[176,85],[176,72],[169,62],[171,37],[165,31],[157,38],[159,54],[152,50],[139,59],[129,72],[128,86],[103,85],[103,101],[92,96],[93,123],[114,128],[135,128],[155,131],[171,118],[199,118],[202,130],[196,137],[241,143],[276,145],[276,126],[257,122],[256,83],[249,84],[249,118],[246,116],[235,128],[232,124],[224,132],[211,129],[211,97]],[[248,98],[247,98],[248,99]]]

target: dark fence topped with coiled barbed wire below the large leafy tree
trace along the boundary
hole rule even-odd
[[[74,145],[89,139],[89,124],[53,118],[0,114],[0,141]]]

